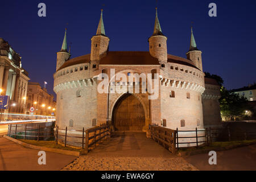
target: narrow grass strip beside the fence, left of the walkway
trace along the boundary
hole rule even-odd
[[[24,139],[18,139],[21,142],[32,144],[34,146],[40,146],[40,147],[49,147],[49,148],[57,148],[61,150],[71,150],[71,151],[82,151],[80,148],[73,148],[73,147],[64,147],[61,144],[55,144],[55,141],[37,141],[37,140],[24,140]]]

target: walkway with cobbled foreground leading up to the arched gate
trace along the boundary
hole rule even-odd
[[[106,140],[63,170],[169,171],[197,168],[146,138],[145,133],[125,133]]]

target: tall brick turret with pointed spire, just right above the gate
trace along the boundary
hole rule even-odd
[[[150,55],[159,60],[160,64],[167,63],[167,37],[163,35],[158,20],[158,10],[155,13],[155,27],[153,35],[148,38]]]

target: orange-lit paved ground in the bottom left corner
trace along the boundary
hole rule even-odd
[[[60,170],[77,158],[46,152],[46,165],[39,165],[38,152],[39,150],[25,148],[0,137],[0,170]]]

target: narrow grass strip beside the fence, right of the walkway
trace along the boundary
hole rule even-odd
[[[210,146],[179,148],[178,151],[184,152],[184,151],[194,151],[194,150],[209,150],[214,148],[232,147],[232,146],[237,146],[239,144],[248,144],[248,143],[254,143],[254,142],[256,142],[256,139],[238,140],[238,141],[230,141],[230,142],[213,142]]]

